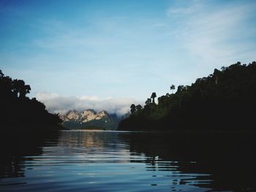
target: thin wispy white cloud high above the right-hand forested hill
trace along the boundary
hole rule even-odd
[[[191,1],[167,9],[166,15],[178,23],[176,38],[197,63],[232,64],[253,61],[256,53],[254,1]],[[253,43],[254,42],[254,43]],[[236,60],[234,60],[236,59]]]

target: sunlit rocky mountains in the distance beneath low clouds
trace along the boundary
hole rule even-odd
[[[69,110],[60,115],[64,128],[70,129],[104,129],[116,130],[122,118],[107,111],[95,112],[94,110]]]

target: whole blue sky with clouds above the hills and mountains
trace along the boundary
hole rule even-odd
[[[255,60],[255,0],[0,0],[0,69],[55,112],[122,113]]]

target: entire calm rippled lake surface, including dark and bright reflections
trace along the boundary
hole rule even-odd
[[[252,134],[61,131],[17,143],[1,145],[0,191],[256,191]]]

